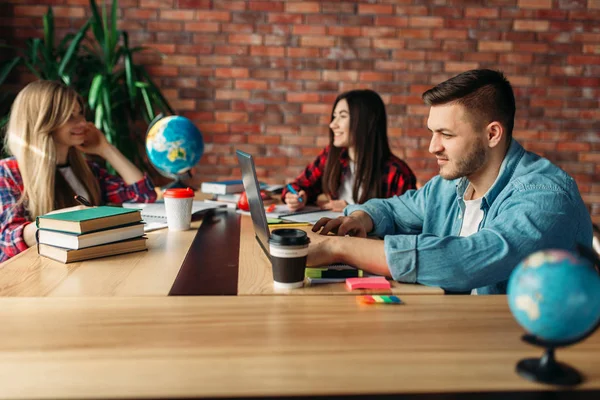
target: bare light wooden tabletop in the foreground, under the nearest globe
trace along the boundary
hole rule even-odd
[[[3,298],[0,397],[480,399],[501,391],[538,399],[545,397],[530,393],[556,390],[515,374],[518,360],[541,350],[520,340],[505,296],[403,300],[362,306],[353,296]],[[558,350],[557,358],[586,376],[577,389],[600,398],[600,332]]]

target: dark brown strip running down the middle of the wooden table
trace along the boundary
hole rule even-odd
[[[239,252],[240,215],[207,211],[169,296],[237,295]]]

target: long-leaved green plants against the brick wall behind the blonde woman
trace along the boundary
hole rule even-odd
[[[43,38],[28,39],[23,49],[0,44],[17,53],[0,67],[0,86],[15,67],[23,64],[39,79],[60,80],[73,87],[86,100],[88,112],[108,141],[142,165],[132,128],[141,120],[149,123],[157,114],[155,110],[164,114],[174,111],[145,67],[133,60],[135,53],[150,49],[129,47],[127,32],[117,29],[118,1],[112,2],[110,15],[106,1],[101,12],[95,0],[90,0],[90,7],[90,19],[56,47],[51,7],[44,15]],[[88,38],[90,28],[93,35]],[[8,104],[0,110],[8,110],[10,103],[11,97],[0,99],[0,105]],[[0,130],[7,120],[7,113],[0,114]]]

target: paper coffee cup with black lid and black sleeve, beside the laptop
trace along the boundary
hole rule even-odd
[[[294,289],[304,285],[310,239],[301,229],[275,229],[269,239],[273,285]]]

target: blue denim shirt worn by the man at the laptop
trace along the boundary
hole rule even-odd
[[[514,139],[482,198],[479,231],[460,237],[468,185],[467,178],[436,176],[419,190],[350,205],[344,214],[371,216],[370,234],[384,237],[395,280],[450,291],[506,293],[511,271],[532,252],[592,245],[591,218],[573,178]]]

